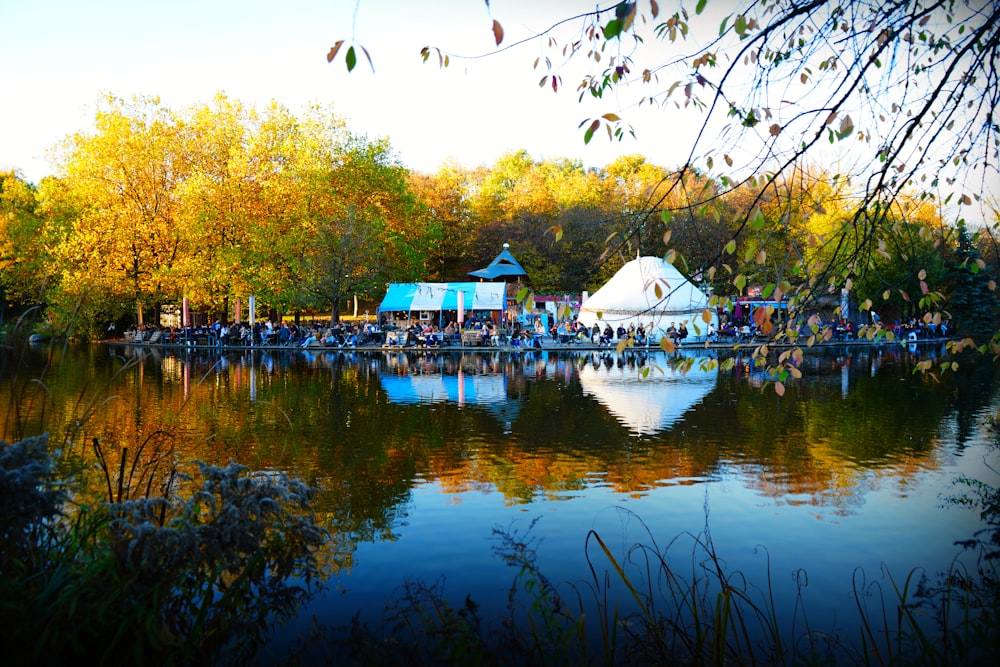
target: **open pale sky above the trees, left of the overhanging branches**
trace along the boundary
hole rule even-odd
[[[505,45],[593,9],[580,0],[491,7]],[[351,37],[352,21],[374,74],[364,60],[351,74],[342,55],[326,62],[333,43]],[[627,153],[667,166],[683,161],[678,149],[687,142],[662,131],[662,123],[677,123],[662,111],[646,114],[659,131],[640,134],[642,141],[604,136],[585,146],[578,125],[615,110],[615,101],[587,108],[573,90],[540,89],[536,46],[446,70],[421,62],[425,45],[494,51],[491,22],[483,0],[0,0],[0,167],[33,181],[50,173],[46,150],[92,126],[101,92],[158,95],[171,108],[207,102],[217,91],[258,107],[275,99],[293,112],[332,103],[353,131],[387,136],[403,163],[422,171],[449,158],[491,164],[519,148],[588,166]],[[574,87],[577,79],[565,82]]]

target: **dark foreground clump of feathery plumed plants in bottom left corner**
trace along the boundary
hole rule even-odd
[[[87,420],[138,361],[81,392],[53,441],[48,364],[25,378],[23,331],[3,345],[4,664],[236,664],[320,590],[328,536],[315,489],[279,471],[177,461],[163,428],[131,447],[84,443]]]

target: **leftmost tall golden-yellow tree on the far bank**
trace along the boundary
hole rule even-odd
[[[59,152],[61,192],[76,207],[73,229],[56,249],[64,316],[76,303],[157,306],[175,292],[182,252],[177,188],[186,176],[176,121],[155,97],[105,96],[93,133],[69,137]],[[73,314],[75,313],[75,315]]]

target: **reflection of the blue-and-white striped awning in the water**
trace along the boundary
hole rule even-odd
[[[520,412],[517,399],[507,396],[506,375],[382,375],[382,388],[393,403],[458,403],[485,409],[510,424]]]

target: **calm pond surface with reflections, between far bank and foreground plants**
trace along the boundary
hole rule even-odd
[[[670,554],[683,563],[685,534],[707,526],[731,570],[761,588],[770,571],[780,610],[807,582],[810,624],[853,632],[852,582],[945,570],[955,540],[981,527],[946,502],[953,480],[1000,483],[989,364],[941,381],[912,373],[939,353],[809,354],[779,398],[742,361],[706,371],[695,358],[682,373],[661,354],[42,347],[17,377],[42,378],[49,398],[15,389],[2,435],[44,429],[131,451],[169,440],[183,459],[276,467],[319,486],[335,574],[279,644],[312,615],[377,619],[407,579],[442,580],[456,601],[471,594],[500,612],[516,573],[494,555],[493,531],[536,519],[551,579],[589,580],[588,555],[606,568],[585,548],[590,530],[619,552],[681,536]]]

